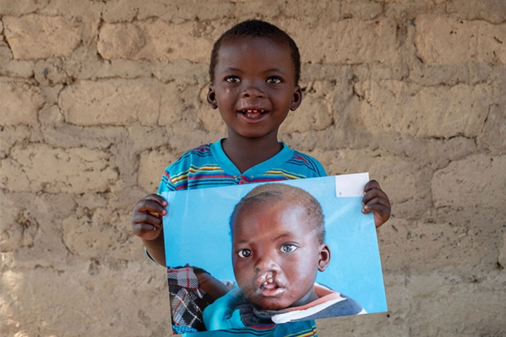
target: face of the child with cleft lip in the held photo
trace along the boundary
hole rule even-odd
[[[304,303],[318,270],[330,263],[306,210],[289,201],[244,206],[233,220],[235,280],[249,300],[267,310]]]

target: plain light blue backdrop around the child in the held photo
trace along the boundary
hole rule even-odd
[[[374,218],[361,212],[362,197],[336,197],[334,176],[278,183],[306,190],[322,206],[331,262],[316,281],[357,300],[369,313],[387,311]],[[188,263],[235,282],[229,218],[235,204],[257,185],[162,194],[169,202],[164,218],[167,264]]]

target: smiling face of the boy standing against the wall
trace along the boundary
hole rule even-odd
[[[290,47],[264,37],[224,41],[207,100],[218,108],[229,136],[277,136],[302,93],[295,84]]]

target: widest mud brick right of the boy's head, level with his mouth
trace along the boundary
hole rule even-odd
[[[486,85],[422,88],[401,81],[372,81],[357,85],[356,92],[364,98],[361,124],[365,128],[371,132],[391,128],[419,137],[474,138],[493,104]],[[413,113],[406,114],[408,109]]]

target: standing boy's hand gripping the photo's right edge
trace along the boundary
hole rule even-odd
[[[390,218],[390,201],[376,180],[370,180],[364,187],[362,213],[374,213],[376,228]]]

